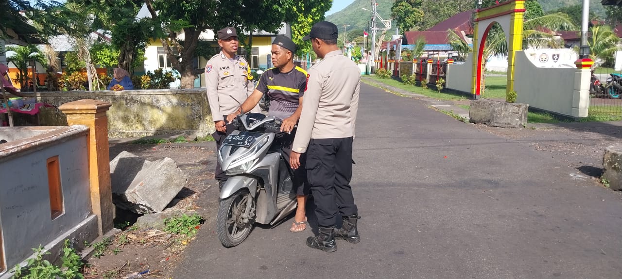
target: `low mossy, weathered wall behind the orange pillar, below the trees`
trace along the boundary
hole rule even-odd
[[[80,99],[111,102],[108,135],[128,138],[170,133],[206,136],[214,131],[205,89],[42,92],[41,100],[60,106]],[[67,125],[56,108],[42,109],[41,125]]]

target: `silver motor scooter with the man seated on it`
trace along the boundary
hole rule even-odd
[[[274,144],[281,120],[261,113],[238,115],[238,130],[218,150],[218,162],[229,175],[220,191],[216,231],[225,247],[246,239],[255,222],[275,224],[295,210],[292,170]]]

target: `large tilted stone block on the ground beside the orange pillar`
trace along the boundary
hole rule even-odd
[[[114,204],[139,214],[164,210],[187,182],[173,159],[147,161],[126,151],[110,162],[110,179]]]

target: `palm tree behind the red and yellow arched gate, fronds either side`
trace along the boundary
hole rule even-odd
[[[486,28],[486,27],[481,27]],[[541,17],[534,17],[533,19],[525,20],[522,24],[522,47],[535,47],[535,48],[561,48],[563,43],[555,39],[555,31],[557,30],[573,30],[575,25],[572,24],[572,20],[567,14],[562,12],[555,12],[553,14],[542,15]],[[552,31],[552,32],[549,32]],[[473,47],[468,45],[464,38],[458,36],[453,30],[447,30],[448,40],[454,50],[458,51],[460,55],[466,58],[468,53],[473,53]],[[486,61],[494,55],[507,55],[508,54],[508,41],[506,40],[505,33],[499,24],[493,25],[488,31],[486,36],[486,42],[484,45],[481,68],[486,68]],[[476,59],[473,57],[473,59]],[[485,91],[485,74],[481,75],[481,92]]]

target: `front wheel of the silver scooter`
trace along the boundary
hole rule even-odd
[[[255,223],[255,210],[255,201],[247,189],[220,200],[216,231],[223,246],[238,246],[246,239]]]

